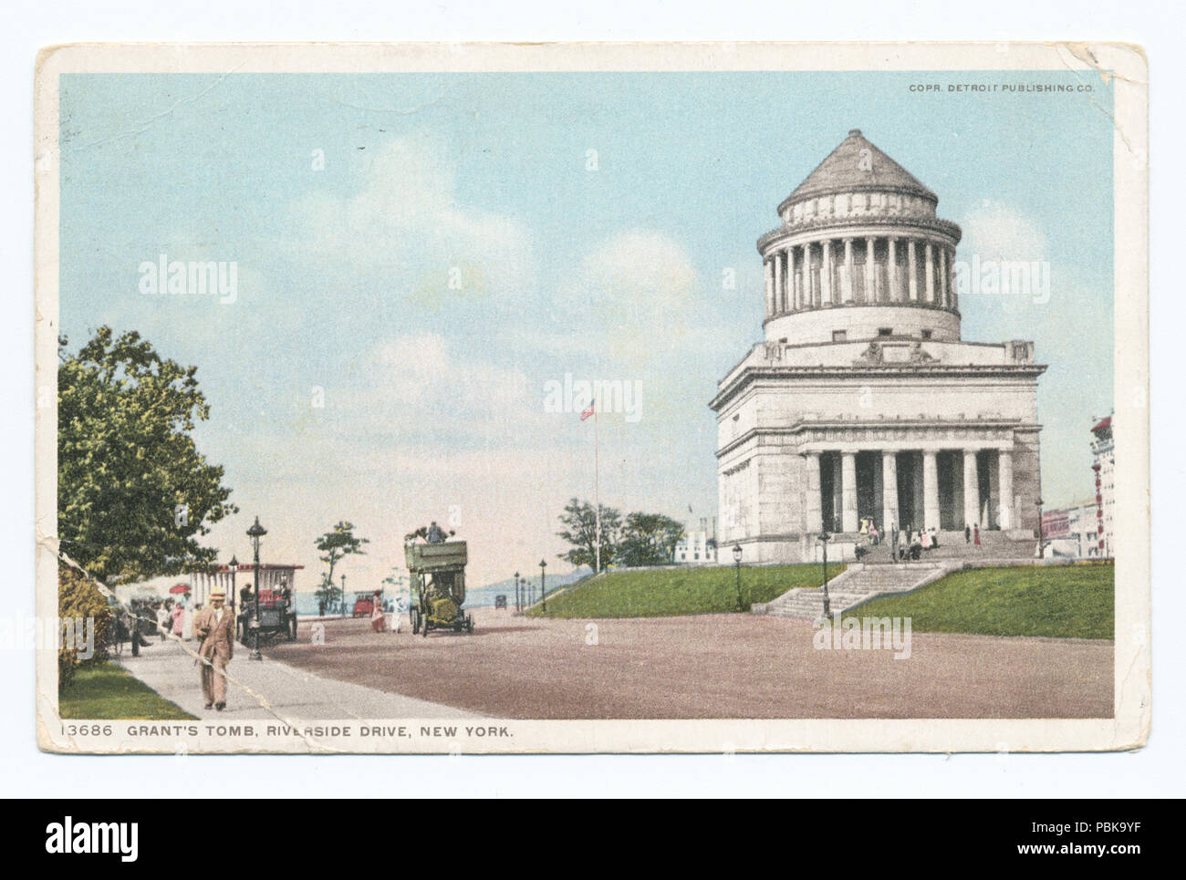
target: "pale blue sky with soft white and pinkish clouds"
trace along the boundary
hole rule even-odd
[[[1076,93],[923,93],[1060,83]],[[1111,94],[1096,75],[66,75],[60,327],[136,330],[195,364],[198,448],[241,512],[204,542],[323,566],[347,589],[402,567],[431,519],[470,579],[563,572],[594,495],[592,420],[546,390],[620,381],[598,417],[602,504],[716,515],[716,382],[761,338],[755,241],[850,128],[939,197],[957,259],[1050,267],[1048,298],[964,295],[963,338],[1033,339],[1047,508],[1092,493],[1112,406]],[[222,261],[236,295],[147,295],[142,266]],[[1037,301],[1044,300],[1044,301]]]

